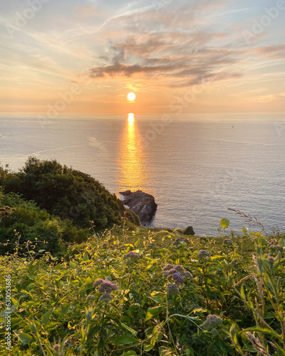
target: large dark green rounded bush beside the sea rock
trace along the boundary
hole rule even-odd
[[[120,224],[124,216],[123,204],[115,194],[110,194],[102,184],[56,160],[39,160],[30,157],[19,172],[0,169],[0,185],[5,192],[23,194],[27,200],[36,201],[49,214],[69,219],[77,227],[105,229]],[[128,219],[139,224],[138,216],[127,211]]]

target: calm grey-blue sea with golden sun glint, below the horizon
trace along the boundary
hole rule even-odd
[[[234,231],[258,230],[229,207],[285,230],[284,115],[180,115],[163,127],[161,115],[134,117],[1,114],[0,162],[57,159],[110,192],[142,189],[158,204],[151,226],[216,234],[227,217]]]

